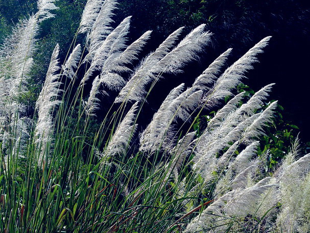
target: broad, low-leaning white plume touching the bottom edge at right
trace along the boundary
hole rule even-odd
[[[237,217],[240,221],[245,220],[247,215],[257,215],[261,198],[269,195],[269,190],[277,186],[268,184],[269,181],[270,177],[267,177],[253,186],[228,192],[193,219],[184,232],[206,230],[208,232],[223,232],[227,229],[227,224],[231,224],[231,230],[241,230],[240,225],[232,222],[231,218]]]

